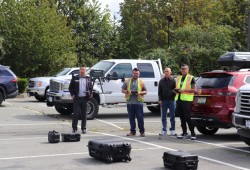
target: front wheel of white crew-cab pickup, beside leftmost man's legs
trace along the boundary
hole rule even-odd
[[[88,101],[87,105],[87,119],[88,120],[94,119],[98,115],[98,112],[99,112],[99,104],[96,101],[96,99],[92,97]]]

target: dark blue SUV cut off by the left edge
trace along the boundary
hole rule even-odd
[[[17,76],[8,66],[0,65],[0,105],[5,99],[18,95]]]

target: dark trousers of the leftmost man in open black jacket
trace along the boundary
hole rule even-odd
[[[87,122],[87,97],[80,97],[74,99],[73,103],[73,120],[72,120],[72,128],[73,130],[77,130],[78,119],[82,121],[81,129],[86,129]]]

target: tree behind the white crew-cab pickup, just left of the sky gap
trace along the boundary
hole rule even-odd
[[[57,0],[58,12],[67,17],[73,32],[78,61],[92,65],[97,60],[115,56],[116,26],[107,9],[101,10],[96,0]]]

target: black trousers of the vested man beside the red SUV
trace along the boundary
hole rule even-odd
[[[179,113],[181,119],[182,132],[187,133],[187,124],[191,133],[194,133],[194,125],[191,121],[191,106],[192,102],[177,100],[176,113]]]

